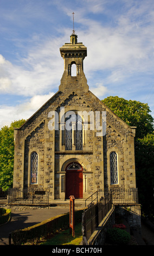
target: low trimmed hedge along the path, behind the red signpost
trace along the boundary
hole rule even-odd
[[[82,212],[83,210],[75,211],[75,223],[82,220]],[[69,228],[69,213],[49,218],[25,229],[16,230],[12,232],[12,240],[14,245],[24,245],[29,241],[34,243],[35,240],[40,240],[41,237],[55,234],[57,231],[66,228]]]

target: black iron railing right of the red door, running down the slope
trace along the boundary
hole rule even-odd
[[[137,188],[130,188],[129,190],[114,188],[110,191],[98,190],[85,200],[87,209],[82,214],[82,234],[86,240],[89,239],[113,204],[138,204]]]

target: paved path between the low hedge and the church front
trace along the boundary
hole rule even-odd
[[[36,209],[27,211],[11,211],[11,221],[0,225],[0,245],[9,245],[9,233],[35,225],[48,218],[65,214],[69,209]],[[12,243],[12,242],[11,242]]]

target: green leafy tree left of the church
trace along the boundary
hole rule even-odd
[[[0,130],[0,187],[5,191],[12,187],[14,171],[14,127],[20,127],[25,120],[18,120]]]

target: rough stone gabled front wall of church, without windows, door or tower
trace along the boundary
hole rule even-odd
[[[83,150],[68,152],[62,143],[61,131],[48,129],[50,111],[106,111],[106,135],[97,136],[97,130],[85,132]],[[88,121],[89,123],[89,121]],[[39,182],[30,185],[30,154],[39,154]],[[134,166],[134,129],[127,126],[114,115],[90,91],[68,94],[57,92],[37,111],[20,129],[15,129],[14,187],[35,186],[50,190],[52,199],[65,199],[65,163],[69,160],[80,161],[84,166],[84,198],[99,188],[111,188],[110,153],[118,155],[118,187],[136,187]]]

